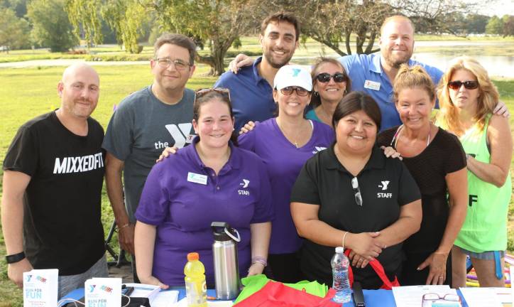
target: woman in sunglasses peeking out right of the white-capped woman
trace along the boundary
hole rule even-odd
[[[332,58],[319,58],[311,70],[314,93],[310,99],[311,109],[305,117],[332,125],[332,114],[337,103],[350,92],[351,80],[343,65]]]

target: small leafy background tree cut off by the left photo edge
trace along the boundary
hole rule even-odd
[[[30,45],[28,22],[16,17],[11,9],[0,9],[0,46],[6,46],[7,52]]]

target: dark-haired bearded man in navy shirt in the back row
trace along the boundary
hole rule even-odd
[[[273,117],[273,78],[278,69],[289,63],[298,47],[300,26],[297,18],[287,12],[268,16],[261,24],[259,42],[263,56],[251,66],[241,68],[236,74],[225,72],[214,87],[230,90],[230,99],[239,131],[249,121],[263,121]]]

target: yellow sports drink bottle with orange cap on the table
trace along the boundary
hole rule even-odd
[[[207,285],[205,284],[205,268],[199,262],[198,253],[187,254],[184,267],[185,293],[187,307],[207,307]]]

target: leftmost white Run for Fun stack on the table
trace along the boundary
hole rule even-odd
[[[34,269],[23,273],[23,307],[57,306],[58,269]]]

